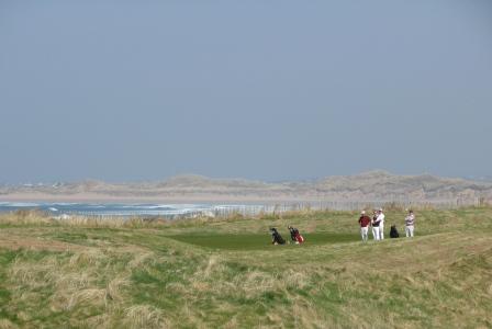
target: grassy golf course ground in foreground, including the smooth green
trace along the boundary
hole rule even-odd
[[[367,245],[355,213],[114,227],[30,216],[0,217],[0,328],[492,327],[491,208],[418,212],[416,238]],[[402,230],[402,212],[387,216]],[[288,224],[308,242],[270,246],[268,227],[287,238]]]

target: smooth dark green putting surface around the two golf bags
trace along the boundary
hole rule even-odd
[[[303,234],[305,242],[302,247],[327,245],[327,243],[340,243],[340,242],[354,242],[360,240],[358,235],[348,234]],[[271,237],[268,234],[245,234],[245,235],[176,235],[169,238],[205,248],[213,249],[228,249],[228,250],[262,250],[273,248],[288,248],[295,245],[286,246],[272,246]],[[283,236],[286,240],[290,240],[290,236]]]

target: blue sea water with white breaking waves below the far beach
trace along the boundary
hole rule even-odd
[[[118,203],[31,203],[0,202],[0,213],[38,209],[53,216],[142,216],[186,217],[193,215],[219,216],[231,213],[255,215],[268,212],[266,205],[242,204],[118,204]]]

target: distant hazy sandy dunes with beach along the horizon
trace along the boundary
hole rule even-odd
[[[306,182],[268,183],[244,179],[178,175],[165,181],[109,183],[98,180],[0,186],[0,201],[161,202],[414,202],[492,201],[492,183],[431,174],[396,175],[369,171]]]

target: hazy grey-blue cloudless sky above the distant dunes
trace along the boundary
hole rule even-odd
[[[0,0],[0,183],[492,175],[492,2]]]

